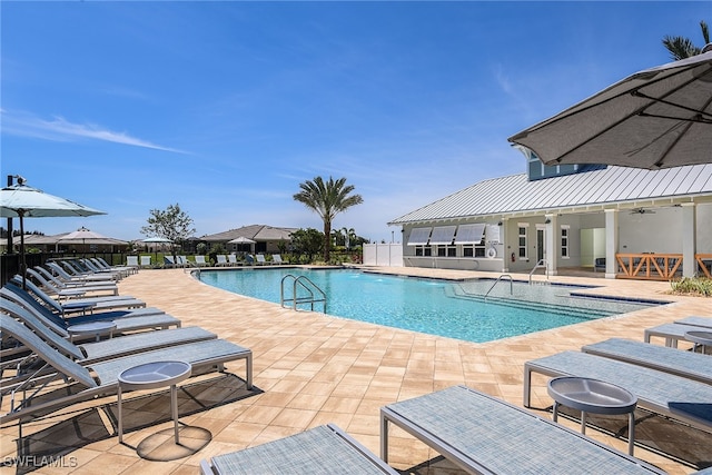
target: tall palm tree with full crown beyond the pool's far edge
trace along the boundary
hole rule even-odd
[[[334,180],[329,177],[324,181],[322,177],[299,184],[301,191],[294,196],[296,201],[303,202],[307,208],[316,211],[324,221],[324,261],[329,261],[332,248],[332,221],[342,211],[355,205],[360,205],[364,199],[360,195],[350,195],[353,185],[346,185],[346,178]]]

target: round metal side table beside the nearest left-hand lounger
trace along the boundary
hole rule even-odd
[[[170,386],[170,414],[174,419],[174,438],[178,435],[178,392],[176,385],[190,377],[191,366],[186,362],[154,362],[125,369],[119,375],[118,419],[119,444],[123,442],[123,420],[121,414],[121,392],[132,389],[157,389]]]

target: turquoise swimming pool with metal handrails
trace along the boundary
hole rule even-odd
[[[639,310],[661,303],[586,298],[581,286],[530,286],[493,279],[438,280],[354,269],[202,270],[205,284],[280,303],[280,281],[306,276],[327,296],[326,313],[431,335],[483,343]],[[289,279],[293,281],[293,279]],[[293,297],[291,284],[286,297]],[[297,293],[297,297],[303,294]],[[308,307],[299,307],[306,308]],[[315,309],[322,309],[315,304]]]

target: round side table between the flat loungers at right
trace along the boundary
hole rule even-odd
[[[581,410],[581,433],[586,433],[586,413],[629,415],[627,452],[633,455],[635,441],[635,406],[637,397],[620,386],[597,379],[558,377],[548,382],[548,395],[554,399],[553,419],[558,417],[558,405]]]

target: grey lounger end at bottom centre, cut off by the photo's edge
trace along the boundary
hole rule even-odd
[[[204,475],[390,474],[397,472],[337,426],[317,426],[289,437],[200,462]]]

